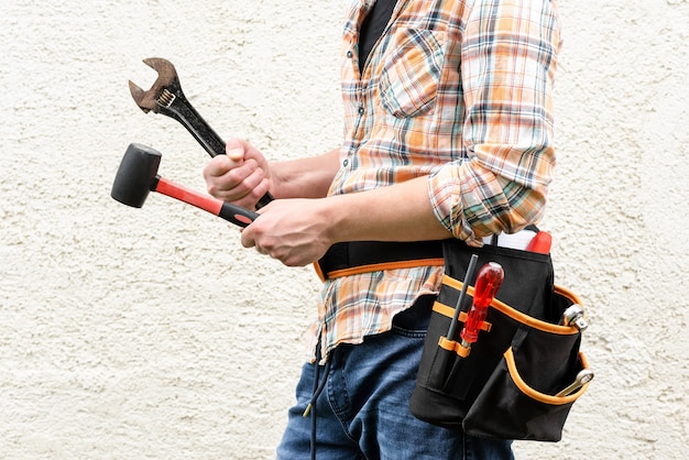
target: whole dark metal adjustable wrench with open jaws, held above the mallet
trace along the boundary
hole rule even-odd
[[[225,154],[225,141],[210,128],[187,100],[182,91],[179,78],[175,66],[161,57],[149,57],[143,63],[157,72],[157,79],[147,91],[144,91],[133,81],[129,81],[129,90],[136,105],[147,113],[153,110],[174,118],[181,122],[208,152],[210,156]],[[256,209],[264,207],[273,200],[269,193],[256,202]]]

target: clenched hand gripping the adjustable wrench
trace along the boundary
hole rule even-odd
[[[226,153],[214,157],[204,168],[208,193],[253,209],[270,188],[269,164],[261,152],[243,140],[229,140]]]

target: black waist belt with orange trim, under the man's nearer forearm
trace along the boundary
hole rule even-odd
[[[316,262],[321,281],[379,270],[444,265],[441,241],[336,243]]]

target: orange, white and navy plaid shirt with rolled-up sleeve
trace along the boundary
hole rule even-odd
[[[555,4],[398,0],[360,74],[358,31],[373,3],[352,1],[344,25],[344,143],[330,194],[426,176],[436,217],[469,244],[537,221],[555,166]],[[419,266],[326,281],[309,358],[319,339],[327,357],[390,330],[441,276]]]

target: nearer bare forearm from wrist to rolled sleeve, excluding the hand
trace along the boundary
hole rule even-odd
[[[328,238],[342,241],[425,241],[450,238],[434,213],[428,178],[324,200]]]

